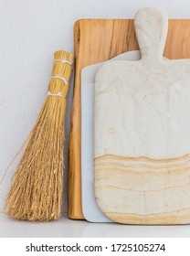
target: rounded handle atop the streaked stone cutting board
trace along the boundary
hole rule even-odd
[[[166,13],[159,8],[142,8],[134,18],[134,27],[142,59],[163,58],[168,28]]]

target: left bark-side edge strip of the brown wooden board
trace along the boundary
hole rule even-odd
[[[75,155],[80,154],[78,148],[76,149],[75,144],[80,144],[79,138],[79,104],[80,99],[77,99],[77,91],[80,90],[80,81],[79,81],[79,39],[80,39],[80,30],[79,30],[80,20],[76,21],[74,24],[74,51],[76,58],[76,70],[75,70],[75,82],[74,82],[74,95],[73,95],[73,104],[71,112],[71,127],[69,134],[69,179],[68,179],[68,216],[69,219],[84,219],[82,207],[81,207],[81,174],[80,170],[76,170],[77,166],[80,166],[80,163],[76,163],[75,160],[80,157]]]

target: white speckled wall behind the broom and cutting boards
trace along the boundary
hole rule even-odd
[[[169,17],[190,18],[189,0],[0,0],[0,179],[25,141],[45,100],[53,52],[73,52],[73,24],[80,18],[128,18],[144,6]],[[66,145],[73,82],[70,84]],[[66,151],[67,154],[67,151]],[[16,163],[0,186],[0,210]],[[67,210],[67,170],[64,176]]]

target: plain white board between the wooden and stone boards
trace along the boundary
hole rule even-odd
[[[125,52],[113,60],[141,59],[140,51]],[[82,182],[82,211],[84,218],[90,222],[111,222],[97,205],[94,195],[93,172],[93,119],[94,119],[94,82],[97,69],[103,63],[90,65],[81,71],[81,182]]]

